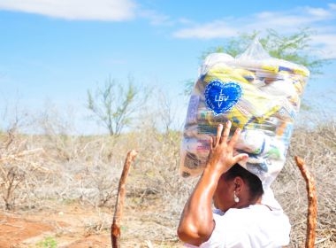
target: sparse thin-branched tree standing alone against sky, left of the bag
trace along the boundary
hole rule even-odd
[[[87,107],[111,136],[118,136],[131,124],[134,113],[147,98],[146,90],[136,87],[132,77],[128,77],[126,86],[109,77],[102,89],[97,87],[95,95],[88,89]]]

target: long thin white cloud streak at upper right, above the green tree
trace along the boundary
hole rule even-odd
[[[328,6],[326,9],[302,7],[290,12],[259,12],[243,18],[215,19],[205,24],[181,28],[173,35],[179,38],[223,38],[267,28],[290,32],[300,27],[316,27],[318,22],[335,19],[336,4]]]

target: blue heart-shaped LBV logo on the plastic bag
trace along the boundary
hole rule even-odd
[[[241,99],[241,85],[236,82],[210,81],[204,90],[205,104],[215,115],[230,110]]]

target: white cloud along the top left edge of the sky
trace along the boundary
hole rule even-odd
[[[126,20],[134,18],[133,0],[3,0],[0,10],[36,13],[61,19]]]

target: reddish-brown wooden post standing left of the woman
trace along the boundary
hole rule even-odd
[[[123,215],[124,199],[125,199],[125,194],[126,194],[126,190],[125,190],[126,177],[128,175],[131,163],[134,161],[137,154],[138,152],[134,150],[127,152],[123,172],[119,179],[118,196],[117,196],[115,210],[114,210],[113,223],[111,225],[112,248],[120,248],[120,241],[119,241],[120,221]]]

